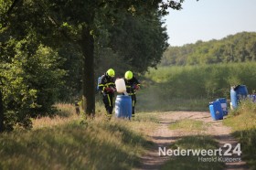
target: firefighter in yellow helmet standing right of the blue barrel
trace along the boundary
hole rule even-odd
[[[126,92],[132,97],[133,112],[132,116],[135,116],[135,104],[136,104],[136,90],[140,89],[140,82],[133,76],[133,72],[128,70],[124,74],[124,82],[126,86]]]

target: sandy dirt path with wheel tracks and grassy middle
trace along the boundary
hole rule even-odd
[[[213,121],[210,117],[209,112],[163,112],[160,113],[159,126],[156,128],[155,132],[149,134],[150,138],[155,143],[155,147],[152,150],[148,151],[142,157],[143,165],[142,168],[140,169],[160,169],[161,165],[163,165],[165,161],[168,159],[168,156],[159,156],[159,147],[168,147],[170,143],[176,142],[176,140],[181,138],[182,136],[195,135],[195,133],[182,132],[180,130],[170,130],[168,128],[169,124],[182,119],[193,119],[206,122],[208,124],[208,128],[203,132],[199,132],[199,134],[212,135],[219,142],[219,147],[221,147],[224,152],[224,143],[230,143],[233,148],[234,146],[237,145],[235,139],[230,135],[230,128],[224,126],[222,124],[222,121]],[[246,169],[249,168],[243,161],[235,163],[226,163],[225,168],[225,170]]]

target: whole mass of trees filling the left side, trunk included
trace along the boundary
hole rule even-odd
[[[182,2],[0,0],[0,131],[30,127],[58,101],[95,113],[97,77],[156,67],[168,47],[161,18]]]

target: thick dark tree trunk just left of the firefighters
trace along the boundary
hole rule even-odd
[[[80,41],[83,54],[82,105],[89,116],[95,114],[95,80],[94,80],[94,38],[89,27],[83,28]]]

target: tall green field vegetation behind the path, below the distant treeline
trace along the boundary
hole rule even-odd
[[[253,93],[255,68],[251,62],[150,69],[137,93],[138,109],[206,111],[209,101],[229,99],[231,86],[244,84]]]

